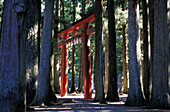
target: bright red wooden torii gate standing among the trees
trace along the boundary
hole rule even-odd
[[[68,43],[72,40],[81,41],[83,39],[83,79],[84,79],[84,99],[92,98],[91,84],[91,55],[90,55],[90,38],[95,33],[95,28],[91,28],[89,23],[95,20],[95,13],[91,13],[85,18],[73,23],[70,27],[58,33],[58,37],[63,39],[58,43],[58,47],[62,48],[62,72],[61,72],[61,97],[67,95],[68,89]],[[80,34],[77,30],[83,28]],[[69,34],[73,36],[69,37]],[[80,80],[80,79],[79,79]]]

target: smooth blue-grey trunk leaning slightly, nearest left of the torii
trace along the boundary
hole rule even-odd
[[[38,74],[38,86],[32,105],[40,105],[48,100],[50,95],[50,52],[52,37],[54,0],[45,1],[44,23],[41,42],[40,67]],[[56,98],[53,99],[55,101]]]

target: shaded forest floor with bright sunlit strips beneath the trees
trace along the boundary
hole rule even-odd
[[[128,107],[124,103],[127,95],[120,95],[119,102],[107,102],[99,104],[83,98],[83,94],[68,94],[66,97],[57,98],[60,103],[53,106],[32,106],[32,111],[28,112],[169,112],[169,110],[147,109],[146,107]],[[94,98],[94,94],[92,95]]]

